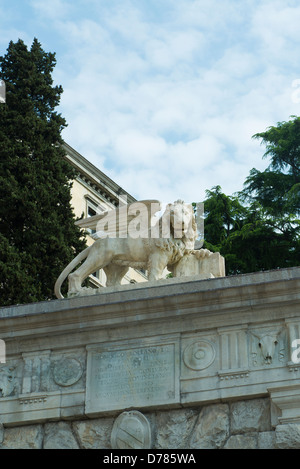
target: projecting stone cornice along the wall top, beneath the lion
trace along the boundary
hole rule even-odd
[[[33,337],[80,327],[126,327],[155,322],[201,321],[203,328],[237,321],[282,319],[282,308],[300,303],[300,268],[197,280],[157,282],[103,288],[99,294],[0,309],[2,338]],[[229,316],[228,316],[229,314]],[[288,317],[295,313],[288,311]],[[296,312],[298,314],[298,312]],[[76,326],[77,325],[77,326]]]

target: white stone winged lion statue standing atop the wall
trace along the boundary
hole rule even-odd
[[[142,207],[146,207],[148,219],[145,220],[144,217],[146,221],[144,231],[141,230],[139,236],[136,236],[136,232],[134,236],[130,235],[128,229],[125,235],[124,232],[120,234],[120,226],[114,228],[113,236],[112,233],[109,235],[103,230],[98,231],[94,236],[95,242],[73,259],[58,277],[54,289],[56,297],[63,298],[61,286],[67,277],[69,297],[95,293],[92,288],[82,287],[82,283],[99,269],[103,269],[107,276],[106,286],[119,285],[129,267],[143,268],[148,271],[149,281],[158,280],[163,277],[165,268],[172,271],[172,267],[185,254],[193,251],[197,238],[197,225],[192,205],[181,200],[168,204],[164,213],[153,223],[156,213],[161,210],[161,206],[156,204],[153,215],[153,210],[150,210],[150,206],[154,205],[153,202],[155,201],[140,202]],[[137,220],[136,214],[128,217],[132,205],[134,204],[125,206],[126,228],[130,227],[130,222],[134,223]],[[109,213],[116,217],[119,210],[112,210]],[[92,219],[94,225],[91,224]],[[86,226],[96,227],[95,223],[98,221],[99,224],[101,216],[96,215],[86,220],[89,223]],[[82,261],[84,261],[82,265],[72,272]]]

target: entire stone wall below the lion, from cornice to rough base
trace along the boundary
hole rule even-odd
[[[300,268],[0,308],[0,331],[0,448],[300,449]]]

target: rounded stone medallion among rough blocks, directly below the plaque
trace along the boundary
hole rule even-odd
[[[150,449],[151,428],[146,417],[138,411],[123,412],[113,425],[113,449]]]

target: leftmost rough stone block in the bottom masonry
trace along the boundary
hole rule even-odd
[[[2,449],[41,449],[43,443],[42,425],[26,425],[6,428]]]

